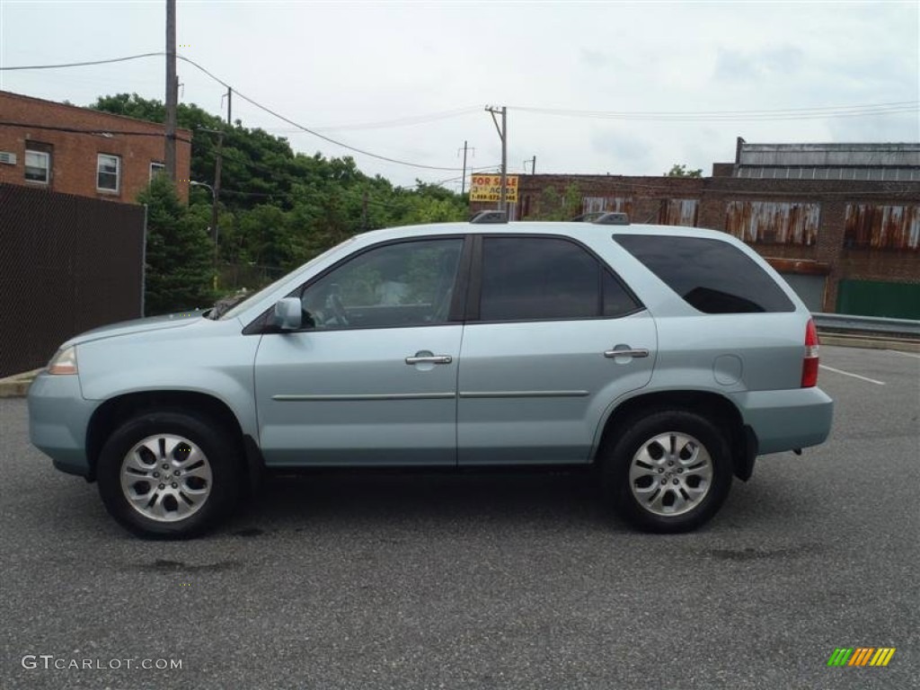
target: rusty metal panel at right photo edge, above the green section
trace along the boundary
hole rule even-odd
[[[920,248],[920,205],[849,203],[844,243],[853,248],[916,251]]]

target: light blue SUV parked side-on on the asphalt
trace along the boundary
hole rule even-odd
[[[138,535],[201,533],[266,470],[589,464],[630,523],[678,532],[756,455],[827,438],[817,375],[811,315],[731,236],[431,224],[70,339],[29,418]]]

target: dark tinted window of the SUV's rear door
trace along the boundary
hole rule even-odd
[[[588,251],[557,237],[485,237],[483,321],[614,317],[638,302]]]

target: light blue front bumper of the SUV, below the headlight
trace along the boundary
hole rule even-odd
[[[29,386],[29,440],[62,472],[89,477],[86,429],[98,405],[77,375],[39,374]]]

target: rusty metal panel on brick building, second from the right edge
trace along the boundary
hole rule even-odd
[[[820,219],[820,203],[730,201],[725,229],[745,242],[811,247]]]

